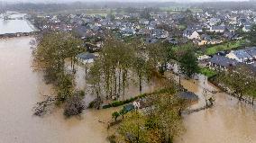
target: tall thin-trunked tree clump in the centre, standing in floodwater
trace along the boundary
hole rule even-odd
[[[142,78],[145,76],[145,60],[136,56],[136,46],[127,44],[121,40],[108,39],[104,48],[96,59],[93,67],[90,67],[88,82],[93,85],[97,97],[105,94],[108,99],[111,96],[120,97],[125,94],[129,79],[137,73],[142,91]]]

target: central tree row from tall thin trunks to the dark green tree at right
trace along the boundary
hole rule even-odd
[[[189,47],[191,45],[188,45]],[[97,97],[123,97],[130,83],[142,83],[152,76],[163,74],[168,63],[177,59],[180,70],[186,76],[193,76],[199,70],[195,52],[191,48],[178,49],[164,42],[143,45],[138,40],[129,41],[108,38],[87,76]]]

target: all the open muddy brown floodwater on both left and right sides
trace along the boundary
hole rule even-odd
[[[107,142],[106,124],[102,122],[109,121],[117,108],[86,110],[80,119],[70,120],[65,120],[59,109],[43,118],[32,115],[32,107],[43,99],[42,94],[52,90],[44,84],[41,73],[32,71],[30,40],[0,40],[0,143]],[[84,76],[78,78],[82,81]],[[204,76],[182,79],[181,84],[199,95],[199,102],[191,108],[205,104],[204,87],[218,90]],[[176,143],[256,143],[255,109],[227,94],[215,94],[215,106],[186,115],[184,125],[187,130]]]

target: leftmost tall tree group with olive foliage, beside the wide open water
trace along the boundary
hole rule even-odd
[[[81,92],[75,91],[76,56],[82,52],[82,41],[67,32],[44,33],[36,38],[38,45],[33,49],[34,67],[44,72],[46,83],[54,85],[57,93],[57,103],[67,102],[65,114],[69,116],[69,107],[77,105],[80,111],[82,104],[78,103]],[[70,61],[70,67],[66,62]],[[80,99],[80,98],[79,98]],[[74,109],[72,109],[74,110]],[[78,111],[77,111],[78,112]],[[72,113],[71,113],[72,114]]]

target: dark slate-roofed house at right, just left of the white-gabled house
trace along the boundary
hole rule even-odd
[[[227,70],[228,68],[233,68],[237,65],[238,62],[236,60],[219,55],[215,55],[209,60],[209,67],[220,70]]]

